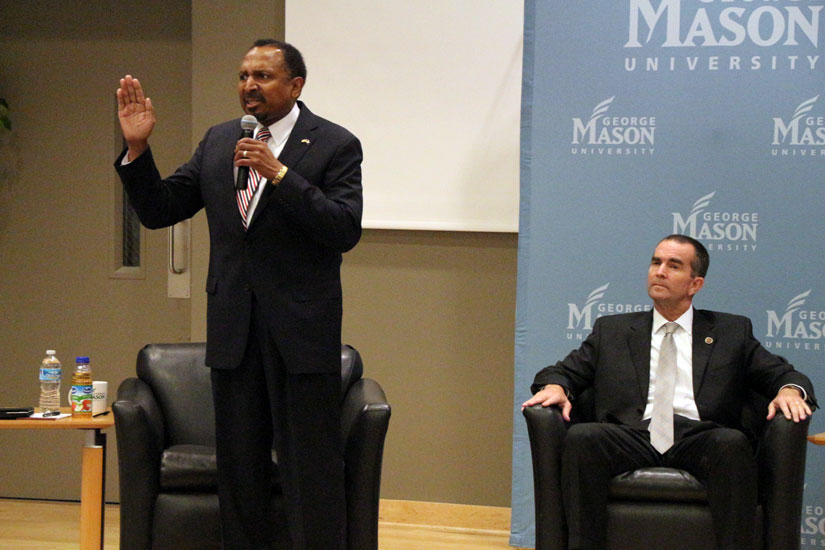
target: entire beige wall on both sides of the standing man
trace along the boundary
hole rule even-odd
[[[0,403],[36,399],[46,346],[64,363],[88,352],[116,385],[143,344],[204,338],[202,215],[191,300],[165,296],[165,232],[146,232],[145,280],[109,278],[112,92],[125,72],[141,76],[160,117],[153,148],[171,171],[209,124],[237,116],[234,75],[248,42],[282,35],[283,3],[255,1],[271,17],[250,22],[228,1],[142,2],[139,16],[126,2],[103,13],[80,0],[0,4],[0,95],[22,159],[18,181],[0,183]],[[366,192],[377,184],[365,181]],[[382,497],[509,505],[516,243],[368,230],[345,255],[344,340],[393,407]],[[25,473],[55,444],[44,480]],[[79,445],[71,434],[49,444],[0,434],[0,461],[12,465],[0,469],[0,496],[77,498]],[[115,488],[110,460],[110,500]]]

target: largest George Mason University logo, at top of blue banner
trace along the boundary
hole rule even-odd
[[[629,0],[624,69],[813,71],[821,66],[823,7],[800,0]]]

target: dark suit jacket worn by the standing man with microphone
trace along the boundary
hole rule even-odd
[[[361,237],[361,144],[344,128],[301,114],[279,160],[288,168],[267,183],[244,231],[235,198],[233,153],[239,120],[210,128],[192,158],[161,179],[151,151],[115,167],[148,228],[167,227],[206,209],[206,364],[234,368],[249,336],[253,296],[286,368],[341,368],[341,254]]]

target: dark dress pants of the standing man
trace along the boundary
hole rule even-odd
[[[225,550],[339,550],[346,499],[341,370],[286,372],[253,306],[250,337],[235,369],[212,369],[218,498]],[[284,489],[290,543],[272,525],[272,455]]]

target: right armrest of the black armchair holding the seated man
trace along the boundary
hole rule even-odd
[[[765,548],[797,550],[810,417],[795,423],[781,413],[759,439],[759,498],[765,518]]]

